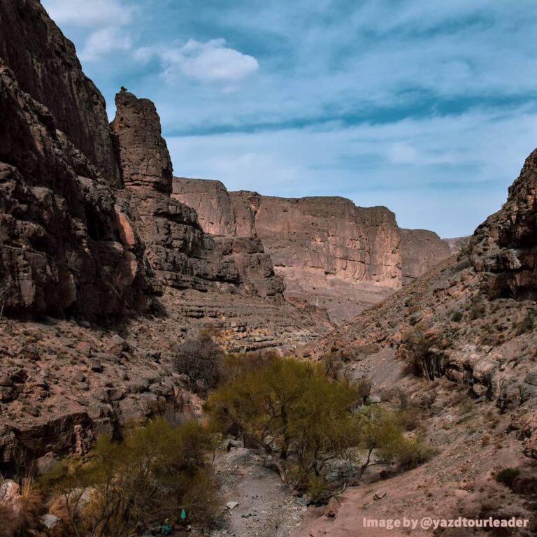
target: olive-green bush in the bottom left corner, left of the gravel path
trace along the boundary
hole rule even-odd
[[[165,518],[213,523],[215,485],[204,464],[210,436],[195,422],[158,419],[121,442],[101,437],[87,461],[73,459],[45,476],[66,535],[129,537]]]

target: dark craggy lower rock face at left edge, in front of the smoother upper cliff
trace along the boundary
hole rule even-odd
[[[106,320],[143,285],[115,196],[0,59],[0,271],[10,310]]]

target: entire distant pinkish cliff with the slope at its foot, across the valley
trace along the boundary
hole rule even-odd
[[[431,231],[397,227],[384,207],[339,197],[284,199],[227,192],[219,181],[174,178],[173,197],[194,208],[203,230],[256,236],[285,281],[285,296],[350,320],[450,255]]]

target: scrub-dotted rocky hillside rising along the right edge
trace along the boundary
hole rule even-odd
[[[438,453],[409,474],[348,490],[335,522],[312,515],[296,536],[339,536],[349,527],[365,536],[364,516],[407,513],[499,513],[529,520],[527,530],[513,535],[534,534],[536,187],[533,152],[506,204],[476,229],[458,259],[445,260],[303,351],[309,359],[335,353],[346,362],[349,378],[371,378],[373,393],[383,401],[399,404],[404,394],[406,405],[422,408],[422,435]],[[425,378],[415,376],[424,371]],[[510,487],[496,482],[504,468],[518,472]],[[378,490],[387,492],[387,501],[372,501]]]

